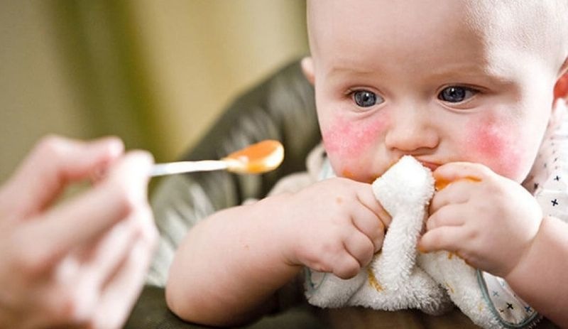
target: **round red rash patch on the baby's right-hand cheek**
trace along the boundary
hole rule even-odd
[[[464,158],[484,163],[491,170],[514,180],[523,171],[523,135],[506,119],[486,117],[471,122],[467,129]]]

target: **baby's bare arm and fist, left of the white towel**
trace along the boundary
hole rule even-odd
[[[192,322],[244,323],[270,311],[302,266],[355,276],[381,248],[389,220],[371,185],[343,178],[217,212],[180,245],[168,306]]]

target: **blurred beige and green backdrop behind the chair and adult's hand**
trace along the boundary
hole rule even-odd
[[[0,0],[0,181],[45,134],[172,161],[307,54],[304,0]]]

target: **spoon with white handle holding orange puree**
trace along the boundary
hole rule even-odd
[[[268,139],[235,151],[221,160],[157,163],[154,165],[150,176],[218,170],[233,173],[266,173],[278,168],[283,159],[284,147],[282,144],[279,141]]]

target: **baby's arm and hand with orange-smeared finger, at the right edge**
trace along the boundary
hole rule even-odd
[[[449,163],[437,181],[453,182],[430,205],[422,251],[456,252],[468,264],[501,276],[523,300],[568,326],[568,225],[542,219],[518,183],[474,163]]]

